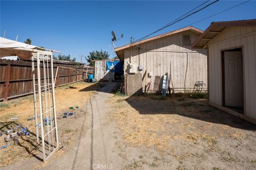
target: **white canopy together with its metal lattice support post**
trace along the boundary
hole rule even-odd
[[[42,159],[43,161],[46,161],[59,147],[52,53],[60,52],[33,45],[27,45],[2,37],[0,37],[0,39],[0,57],[19,56],[24,60],[31,58],[36,140],[38,144],[39,142],[42,143]],[[36,89],[38,94],[36,94]],[[39,132],[39,129],[41,132]]]

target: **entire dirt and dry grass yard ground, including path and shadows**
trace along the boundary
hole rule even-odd
[[[30,135],[0,150],[1,166],[16,162],[3,169],[256,169],[256,125],[209,106],[204,95],[123,97],[114,85],[58,88],[58,116],[78,106],[74,117],[58,120],[60,150],[45,163],[35,160]],[[11,100],[1,108],[1,131],[33,126],[31,116],[30,97]]]

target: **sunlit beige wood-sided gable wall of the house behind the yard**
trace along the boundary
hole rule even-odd
[[[151,72],[152,77],[147,78],[147,82],[151,81],[151,90],[154,89],[155,76],[162,77],[166,72],[170,75],[170,71],[176,91],[183,91],[184,87],[193,90],[196,81],[204,81],[207,88],[206,50],[191,50],[190,46],[182,45],[182,35],[190,35],[191,43],[199,36],[183,31],[132,47],[132,50],[126,49],[124,73],[141,73],[142,87],[145,87],[146,70]],[[143,66],[142,71],[138,70],[139,65]]]

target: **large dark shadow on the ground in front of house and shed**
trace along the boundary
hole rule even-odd
[[[206,99],[142,95],[131,96],[125,100],[141,115],[177,114],[205,122],[256,131],[256,125],[210,106]]]

